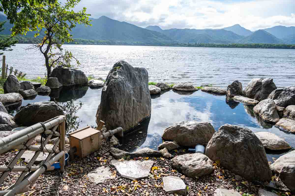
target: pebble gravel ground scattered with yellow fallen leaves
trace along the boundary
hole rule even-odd
[[[66,149],[68,150],[68,148]],[[9,151],[0,156],[0,165],[7,164],[15,156],[17,151]],[[173,156],[188,153],[186,149],[180,149],[178,151],[172,151]],[[97,158],[99,157],[99,158]],[[113,175],[116,178],[107,180],[102,184],[95,185],[87,178],[87,173],[97,167],[108,165],[112,160],[112,156],[109,155],[108,145],[105,141],[102,142],[102,148],[99,151],[83,158],[82,160],[74,160],[68,162],[65,167],[65,172],[61,174],[59,171],[48,171],[40,175],[37,179],[34,187],[30,188],[28,192],[19,195],[127,195],[127,196],[157,196],[157,195],[170,195],[163,190],[162,177],[171,175],[178,176],[189,187],[188,195],[213,195],[216,188],[233,189],[241,193],[241,195],[250,194],[258,195],[258,189],[263,185],[254,185],[251,182],[235,179],[235,174],[232,174],[226,169],[219,167],[218,164],[214,164],[214,172],[211,175],[203,176],[200,178],[188,178],[183,176],[172,168],[171,159],[149,157],[149,160],[153,160],[154,166],[158,167],[158,170],[154,170],[154,174],[151,173],[147,179],[141,179],[139,181],[131,181],[128,179],[120,178],[115,169],[112,168]],[[146,157],[139,158],[139,160],[146,160]],[[20,161],[17,165],[24,165],[23,161]],[[16,182],[20,172],[12,172],[6,177],[4,183],[1,185],[1,190],[5,187]],[[286,189],[281,183],[280,179],[274,183],[280,189]],[[264,183],[267,185],[267,183]],[[278,193],[284,196],[283,193]],[[285,194],[286,195],[286,194]],[[171,195],[174,196],[174,195]],[[244,195],[245,196],[245,195]],[[247,195],[248,196],[248,195]],[[287,195],[286,195],[287,196]]]

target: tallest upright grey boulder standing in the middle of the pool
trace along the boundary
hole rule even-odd
[[[115,63],[102,88],[96,123],[102,120],[107,130],[122,127],[126,131],[148,118],[150,112],[148,71],[125,61]]]

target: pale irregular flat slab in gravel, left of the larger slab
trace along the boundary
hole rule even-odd
[[[112,172],[110,171],[110,167],[102,166],[98,167],[87,174],[90,182],[94,182],[95,184],[103,183],[108,179],[113,179],[116,176],[112,176]]]

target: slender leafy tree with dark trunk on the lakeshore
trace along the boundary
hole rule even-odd
[[[63,53],[62,44],[73,42],[74,39],[70,34],[71,29],[76,24],[91,25],[89,16],[86,14],[86,8],[75,12],[71,10],[81,0],[67,0],[64,4],[59,2],[55,4],[44,1],[30,7],[37,21],[32,23],[31,13],[21,11],[17,13],[17,18],[12,27],[12,35],[25,34],[27,31],[35,31],[35,37],[40,37],[40,43],[33,44],[27,49],[38,50],[45,58],[47,77],[50,77],[51,68],[57,65],[71,66],[71,60],[75,59],[71,52]],[[34,19],[35,20],[35,19]],[[24,27],[24,24],[27,24]],[[75,59],[76,60],[76,59]],[[79,62],[76,60],[77,64]]]

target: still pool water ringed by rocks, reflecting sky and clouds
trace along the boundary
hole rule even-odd
[[[57,96],[55,96],[57,95]],[[63,88],[58,94],[50,94],[69,114],[70,131],[87,125],[96,125],[96,110],[101,99],[101,88],[87,86]],[[235,102],[226,96],[216,96],[202,91],[176,93],[173,90],[152,95],[150,118],[140,123],[132,133],[124,133],[121,149],[135,151],[138,148],[157,149],[162,143],[161,135],[165,128],[179,121],[207,121],[217,131],[220,126],[229,123],[247,127],[253,132],[268,131],[285,139],[295,148],[295,134],[285,133],[276,127],[261,121],[253,112],[253,106]],[[49,101],[50,97],[37,95],[33,102]],[[32,102],[23,100],[22,106]],[[286,152],[267,152],[268,160],[273,162]]]

